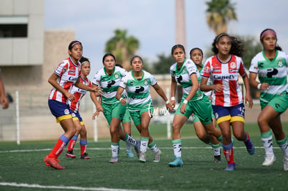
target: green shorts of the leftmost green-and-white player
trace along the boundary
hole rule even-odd
[[[123,117],[125,116],[127,106],[122,106],[120,102],[113,104],[107,104],[102,102],[101,104],[103,108],[103,114],[106,117],[109,125],[111,124],[112,118],[117,118],[122,121]]]

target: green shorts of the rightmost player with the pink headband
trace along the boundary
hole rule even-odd
[[[269,105],[271,106],[276,112],[281,115],[285,112],[288,108],[288,93],[284,92],[283,94],[275,95],[273,99],[271,99],[269,102],[261,101],[261,110],[265,108],[265,106]]]

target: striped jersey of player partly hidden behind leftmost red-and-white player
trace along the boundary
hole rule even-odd
[[[80,77],[80,81],[84,85],[88,85],[89,87],[92,87],[91,81],[88,78],[86,78],[86,80],[84,80],[82,77]],[[74,97],[76,99],[74,99],[73,101],[70,101],[68,99],[67,101],[68,101],[68,104],[70,106],[70,109],[72,109],[74,111],[74,113],[77,113],[79,111],[80,101],[81,101],[82,97],[84,97],[86,92],[87,92],[86,90],[82,90],[82,89],[78,88],[77,86],[72,85],[70,93],[74,94]]]

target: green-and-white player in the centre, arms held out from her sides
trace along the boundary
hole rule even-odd
[[[123,106],[128,103],[130,115],[136,128],[141,133],[141,152],[139,155],[139,161],[143,163],[146,162],[146,151],[147,147],[149,147],[152,153],[154,153],[153,162],[157,163],[160,161],[161,151],[149,133],[150,119],[153,114],[150,85],[166,102],[166,108],[168,110],[171,110],[171,106],[154,76],[142,69],[142,58],[140,56],[133,56],[130,63],[132,70],[122,78],[122,82],[120,83],[116,94],[116,99],[118,99]],[[127,91],[127,99],[121,97],[124,90]]]

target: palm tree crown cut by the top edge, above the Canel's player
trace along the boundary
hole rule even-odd
[[[211,0],[206,2],[208,8],[206,10],[207,24],[216,35],[227,33],[227,23],[230,20],[237,20],[235,13],[235,3],[230,0]]]

